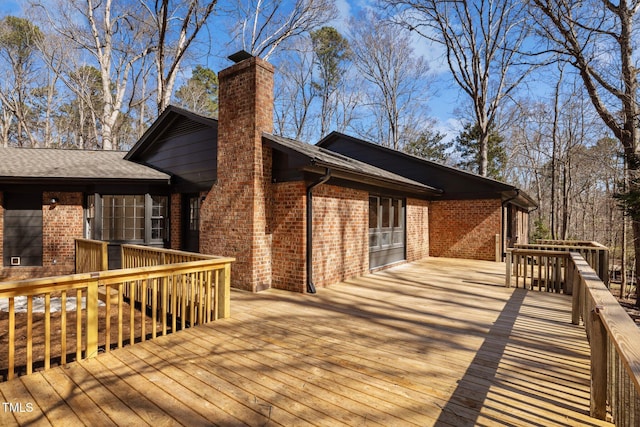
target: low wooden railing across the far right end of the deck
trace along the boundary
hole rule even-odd
[[[534,244],[514,245],[507,249],[506,286],[515,281],[529,289],[572,293],[572,284],[566,280],[569,252],[577,252],[609,284],[609,250],[597,242],[545,240]]]

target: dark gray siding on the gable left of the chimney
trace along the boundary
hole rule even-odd
[[[178,191],[208,190],[216,179],[217,126],[178,117],[135,161],[172,175]]]

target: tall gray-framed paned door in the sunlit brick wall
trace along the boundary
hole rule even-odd
[[[369,197],[369,268],[402,261],[405,256],[405,202]]]

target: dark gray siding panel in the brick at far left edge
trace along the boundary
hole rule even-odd
[[[20,266],[42,265],[42,194],[4,194],[3,264],[11,266],[20,257]]]

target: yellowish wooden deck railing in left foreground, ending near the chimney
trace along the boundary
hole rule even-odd
[[[228,317],[233,261],[216,257],[0,284],[0,301],[8,299],[9,312],[6,377],[13,378],[16,366],[22,363],[29,374],[35,362],[48,369],[52,361],[66,364],[74,351],[76,360],[94,357],[99,350],[108,352],[112,346],[122,347]],[[99,303],[99,288],[110,296],[104,305]],[[136,310],[135,299],[127,298],[127,294],[138,295],[139,307],[146,309]],[[16,313],[18,297],[26,298],[24,314]],[[42,315],[34,315],[36,297],[43,300]],[[53,301],[60,303],[59,312],[52,310]],[[71,308],[67,309],[69,302]],[[18,338],[22,341],[22,337],[16,336],[17,321],[21,326],[22,322],[26,324],[26,348],[20,351],[24,354],[20,363],[16,363]],[[39,356],[34,355],[34,330],[44,336]],[[53,347],[60,349],[59,354],[52,354]],[[4,348],[0,347],[0,351]]]

